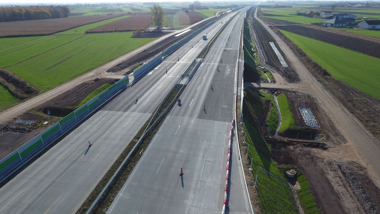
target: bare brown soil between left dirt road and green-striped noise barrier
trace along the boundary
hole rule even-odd
[[[41,113],[36,114],[36,111],[48,108],[49,110],[60,109],[70,113],[73,107],[78,105],[87,95],[95,91],[95,89],[99,88],[101,85],[107,83],[113,84],[117,81],[114,79],[95,80],[82,83],[66,93],[63,93],[60,96],[57,96],[54,99],[36,107],[35,109],[32,109],[27,113],[23,113],[19,117],[14,118],[12,121],[6,122],[5,125],[12,130],[0,132],[0,160],[60,119],[60,117],[53,117]],[[35,120],[36,122],[32,125],[22,125],[14,122],[17,119]],[[49,121],[49,123],[44,125],[43,122],[45,121]]]

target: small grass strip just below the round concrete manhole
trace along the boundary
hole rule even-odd
[[[310,190],[309,182],[305,176],[301,175],[297,177],[297,181],[301,189],[297,190],[301,206],[305,214],[319,214],[317,204],[315,204],[314,197]]]

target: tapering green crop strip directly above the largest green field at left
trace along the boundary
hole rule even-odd
[[[50,40],[39,43],[37,45],[13,51],[9,54],[5,54],[2,57],[0,57],[0,67],[7,68],[9,66],[16,65],[23,61],[30,60],[33,57],[38,56],[39,54],[52,51],[61,45],[65,45],[83,36],[84,35],[65,35],[51,37]]]

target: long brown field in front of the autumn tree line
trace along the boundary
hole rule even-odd
[[[0,22],[0,38],[50,35],[122,15],[75,16],[59,19]]]

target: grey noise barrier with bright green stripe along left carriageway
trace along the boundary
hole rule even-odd
[[[26,142],[19,149],[0,160],[0,182],[3,182],[3,180],[20,168],[20,166],[32,160],[32,158],[41,152],[41,150],[47,148],[49,144],[52,144],[60,136],[67,133],[80,120],[120,91],[120,89],[128,85],[128,83],[128,76],[117,81],[114,85],[110,86],[105,91],[101,92],[90,101],[47,128],[41,134],[38,134],[38,136]]]

